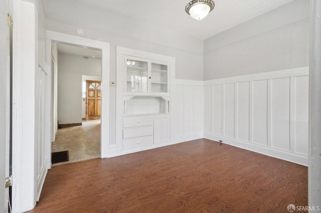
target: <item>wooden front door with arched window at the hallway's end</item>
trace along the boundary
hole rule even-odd
[[[86,120],[100,119],[101,81],[86,80]]]

